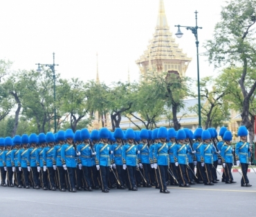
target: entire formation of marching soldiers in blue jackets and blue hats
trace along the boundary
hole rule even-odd
[[[250,187],[247,177],[250,151],[248,131],[241,126],[236,145],[237,164],[241,164],[241,186]],[[87,129],[60,130],[57,134],[24,134],[0,138],[1,185],[19,188],[51,189],[65,192],[92,191],[110,188],[137,191],[138,187],[155,186],[161,193],[170,193],[167,185],[214,185],[217,165],[222,165],[222,182],[232,178],[232,134],[221,127],[218,141],[214,128],[183,129],[176,132],[160,127],[153,131],[111,133]],[[196,174],[194,170],[196,168]],[[14,183],[12,181],[14,180]]]

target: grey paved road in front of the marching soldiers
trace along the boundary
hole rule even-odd
[[[93,192],[51,192],[42,189],[0,187],[0,216],[255,216],[256,174],[248,174],[253,187],[236,184],[171,187],[171,194],[140,187],[138,192],[111,189],[108,194]]]

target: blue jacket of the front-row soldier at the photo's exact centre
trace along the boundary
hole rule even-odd
[[[128,143],[122,148],[122,163],[127,166],[137,166],[138,165],[138,156],[137,156],[138,147],[137,145],[129,145]]]

